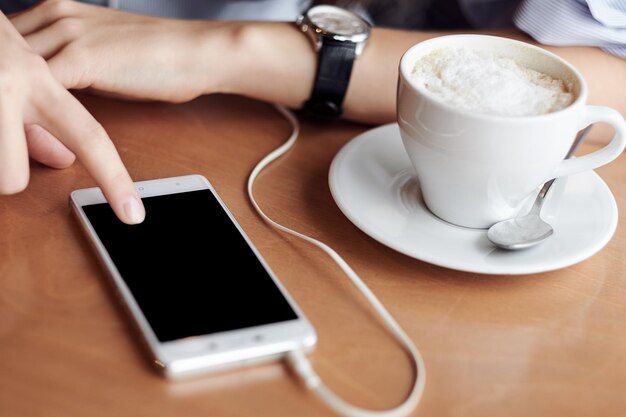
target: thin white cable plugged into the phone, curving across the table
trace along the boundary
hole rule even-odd
[[[361,291],[367,301],[369,301],[374,310],[376,310],[376,312],[380,315],[389,331],[396,337],[402,347],[404,347],[410,354],[411,359],[413,360],[413,363],[415,365],[415,379],[411,392],[402,404],[390,410],[373,411],[356,407],[344,401],[334,392],[332,392],[326,385],[324,385],[320,377],[315,373],[313,367],[311,366],[311,363],[309,362],[303,351],[294,350],[289,352],[287,354],[287,362],[289,363],[289,365],[291,365],[294,372],[302,379],[306,387],[311,389],[323,402],[325,402],[330,408],[332,408],[336,413],[340,415],[346,417],[406,416],[411,413],[415,409],[415,407],[417,407],[417,404],[422,397],[422,393],[424,392],[424,384],[426,381],[424,360],[422,359],[422,355],[419,353],[411,339],[407,336],[404,330],[387,311],[385,306],[383,306],[378,298],[376,298],[374,293],[367,287],[367,285],[365,285],[365,283],[361,280],[361,278],[359,278],[356,272],[354,272],[350,265],[348,265],[337,252],[335,252],[330,246],[326,245],[323,242],[320,242],[317,239],[296,232],[295,230],[292,230],[286,226],[283,226],[280,223],[275,222],[263,212],[263,210],[254,198],[252,189],[254,186],[254,181],[256,180],[259,173],[261,173],[261,171],[267,165],[287,153],[287,151],[289,151],[289,149],[291,149],[296,143],[296,140],[298,139],[298,134],[300,133],[300,124],[298,123],[298,120],[296,119],[294,114],[282,106],[275,105],[275,107],[280,112],[280,114],[289,121],[293,131],[291,133],[291,136],[289,136],[285,143],[283,143],[281,146],[265,156],[265,158],[263,158],[250,173],[250,177],[248,177],[248,196],[250,197],[252,205],[259,213],[259,215],[263,218],[263,220],[265,220],[267,223],[285,233],[289,233],[290,235],[299,237],[300,239],[304,239],[307,242],[317,246],[318,248],[326,252],[328,256],[330,256],[339,265],[339,267],[348,276],[348,278],[350,278],[352,283]]]

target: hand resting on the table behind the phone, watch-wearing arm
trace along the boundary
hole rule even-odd
[[[232,71],[224,60],[233,22],[163,19],[72,0],[44,1],[11,22],[66,88],[182,102],[222,92]],[[204,59],[207,51],[217,59]]]

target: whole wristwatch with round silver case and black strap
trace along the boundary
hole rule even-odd
[[[311,7],[296,24],[318,52],[313,90],[304,108],[315,116],[336,119],[343,113],[352,66],[365,48],[371,25],[356,13],[330,5]]]

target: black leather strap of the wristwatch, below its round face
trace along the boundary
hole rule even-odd
[[[319,52],[317,73],[311,98],[304,108],[325,119],[336,119],[343,113],[343,99],[348,89],[356,44],[325,39]]]

